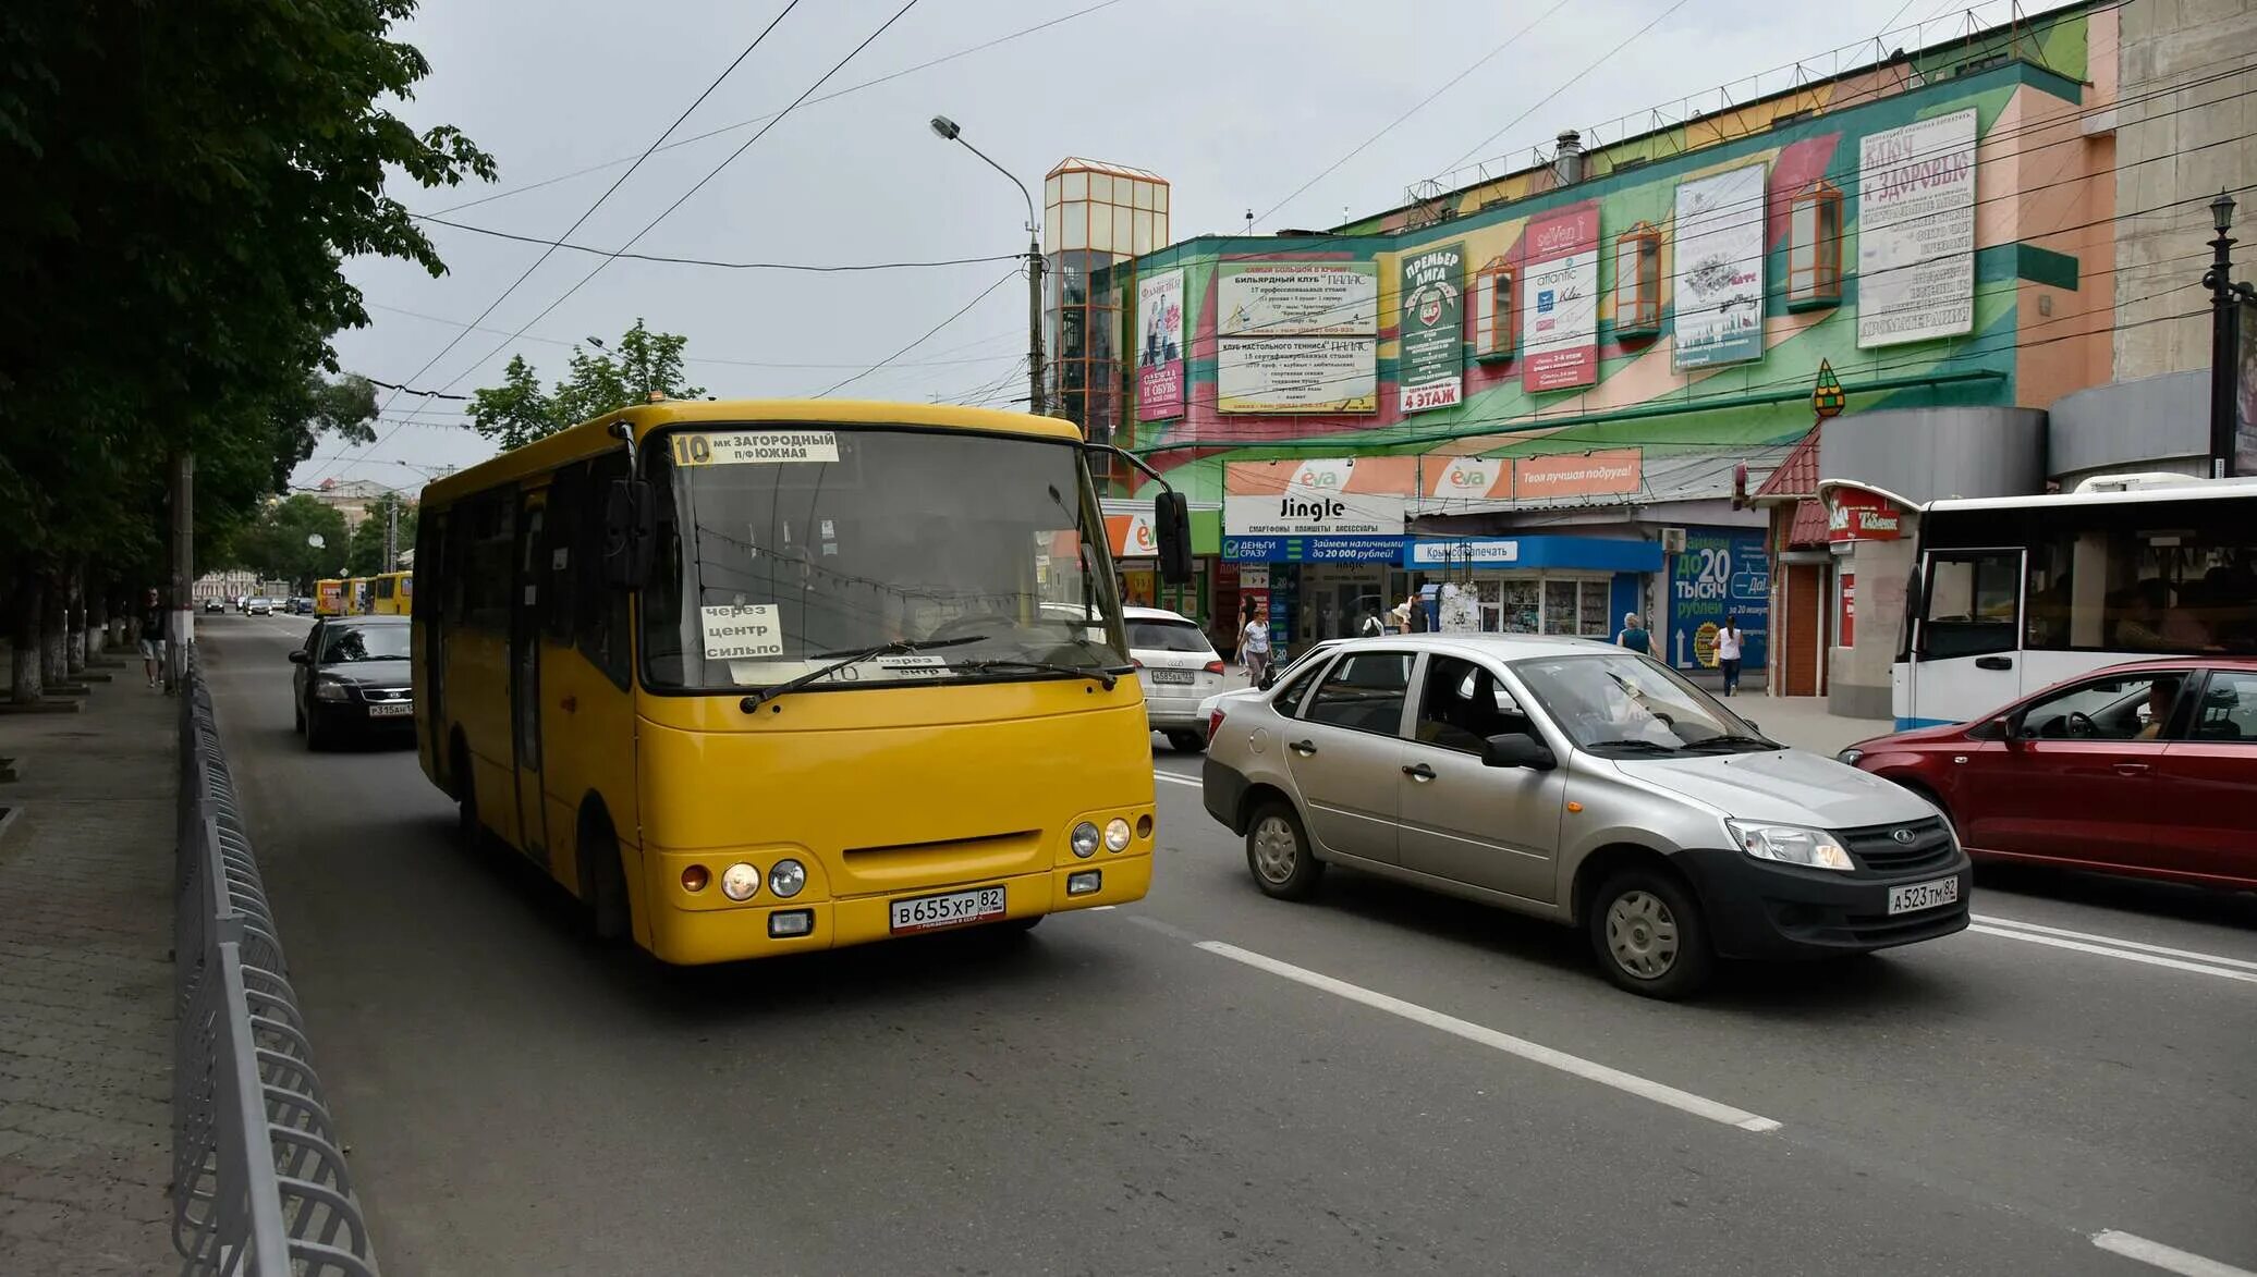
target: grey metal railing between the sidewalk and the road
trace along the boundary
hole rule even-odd
[[[194,645],[185,693],[172,1069],[181,1272],[375,1277]]]

